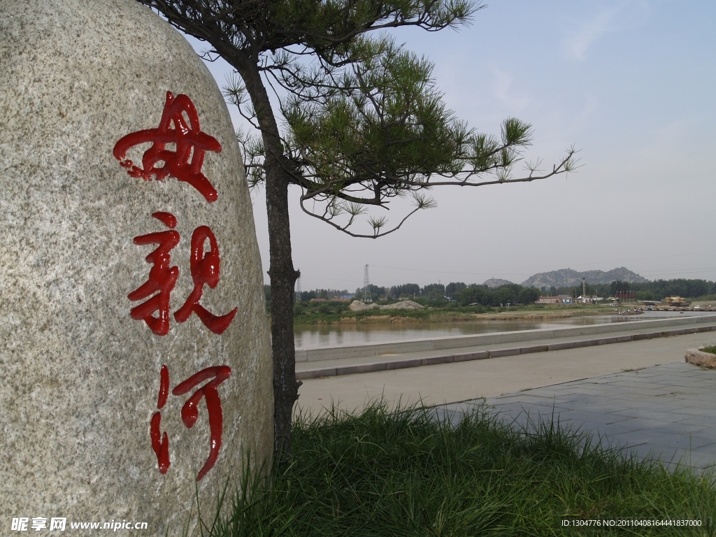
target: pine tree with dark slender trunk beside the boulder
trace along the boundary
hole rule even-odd
[[[500,137],[470,130],[442,102],[432,65],[383,32],[467,24],[474,0],[138,0],[208,43],[206,59],[235,69],[229,100],[256,127],[238,132],[250,185],[263,185],[269,215],[271,337],[276,450],[290,453],[298,398],[289,185],[304,212],[357,237],[392,233],[435,206],[435,186],[483,186],[548,178],[574,169],[574,148],[547,173],[539,161],[513,177],[531,125],[503,122]],[[269,89],[285,95],[277,110]],[[286,129],[279,128],[284,120]],[[369,209],[395,198],[412,207],[389,226]],[[367,232],[357,231],[364,222]]]

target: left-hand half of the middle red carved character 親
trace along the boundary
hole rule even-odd
[[[168,228],[176,226],[176,218],[170,213],[153,213],[152,216],[163,222]],[[137,301],[156,294],[139,306],[132,308],[130,316],[135,321],[144,320],[152,332],[158,336],[165,336],[169,333],[169,296],[179,276],[178,267],[170,268],[169,266],[171,261],[169,251],[179,243],[179,233],[176,231],[147,233],[147,235],[135,237],[134,243],[137,245],[158,244],[159,247],[146,257],[147,263],[153,263],[149,271],[149,279],[128,294],[127,298]],[[155,311],[159,311],[156,317],[153,315]]]

